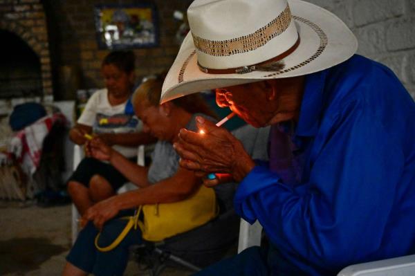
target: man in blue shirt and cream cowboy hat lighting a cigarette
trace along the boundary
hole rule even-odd
[[[209,13],[226,10],[229,1],[246,15],[212,28]],[[162,102],[216,87],[219,106],[255,127],[271,125],[268,163],[252,160],[241,142],[203,118],[196,120],[205,134],[182,129],[174,144],[181,166],[200,176],[216,173],[205,185],[218,185],[223,174],[241,182],[235,209],[250,223],[258,220],[269,241],[201,275],[335,275],[350,264],[415,252],[414,100],[388,68],[353,55],[340,19],[288,3],[293,17],[284,15],[283,0],[195,1],[188,10],[192,37],[164,84]],[[270,9],[281,12],[275,21],[264,19]],[[252,16],[264,19],[257,31],[232,39],[245,31],[239,20]],[[298,39],[290,33],[293,21]],[[229,37],[227,24],[234,26]],[[274,39],[273,49],[288,50],[264,61],[270,49],[261,51]]]

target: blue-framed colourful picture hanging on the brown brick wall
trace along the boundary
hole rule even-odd
[[[95,30],[101,49],[158,46],[158,20],[152,4],[97,5]]]

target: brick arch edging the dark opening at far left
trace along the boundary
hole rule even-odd
[[[0,0],[0,29],[24,40],[39,57],[43,94],[53,98],[48,32],[41,0]],[[6,43],[7,42],[1,42]]]

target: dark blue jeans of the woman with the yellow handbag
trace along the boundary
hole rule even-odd
[[[133,213],[122,212],[118,217],[104,224],[98,241],[99,246],[109,246],[118,237],[128,221],[119,219],[119,217],[127,214],[132,215]],[[127,267],[129,247],[142,243],[140,228],[136,230],[132,228],[121,243],[109,252],[100,252],[95,248],[95,237],[98,232],[98,229],[90,221],[78,235],[66,260],[87,273],[93,273],[93,275],[122,275]]]

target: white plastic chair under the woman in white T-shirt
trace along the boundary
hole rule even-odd
[[[82,158],[84,158],[84,150],[80,145],[75,145],[73,147],[73,170],[76,169],[77,165],[81,162]],[[140,166],[145,165],[145,151],[144,145],[140,145],[137,149],[137,164]],[[137,189],[137,186],[133,183],[125,183],[120,189],[118,193],[127,192],[133,189]],[[79,229],[79,219],[80,213],[77,212],[77,209],[74,204],[72,204],[72,243],[75,243],[76,237]]]

